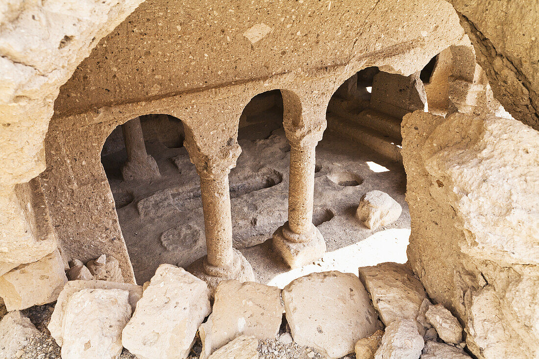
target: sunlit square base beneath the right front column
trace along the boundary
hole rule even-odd
[[[286,227],[285,227],[286,226]],[[285,228],[284,228],[285,227]],[[311,238],[308,241],[292,241],[285,237],[287,233],[288,223],[280,226],[273,233],[273,248],[277,251],[286,264],[291,268],[298,268],[315,260],[322,258],[326,253],[326,241],[322,237],[322,233],[313,224],[313,230],[310,232]]]

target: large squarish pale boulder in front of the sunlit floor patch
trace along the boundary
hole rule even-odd
[[[354,352],[358,340],[379,329],[378,315],[361,281],[351,273],[312,273],[282,291],[294,341],[329,358]]]

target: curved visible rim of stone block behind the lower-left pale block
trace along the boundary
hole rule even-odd
[[[82,289],[121,289],[128,292],[128,301],[132,311],[135,310],[136,303],[142,296],[142,287],[134,284],[115,283],[104,280],[70,280],[66,283],[58,300],[54,306],[54,312],[51,315],[51,321],[47,329],[51,332],[51,336],[56,340],[61,347],[64,343],[65,333],[65,316],[66,308],[71,296],[82,291]]]

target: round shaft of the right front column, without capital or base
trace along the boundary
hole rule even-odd
[[[290,150],[290,179],[288,187],[288,226],[298,234],[312,229],[315,144],[292,146]]]

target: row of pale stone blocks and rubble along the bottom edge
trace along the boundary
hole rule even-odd
[[[83,272],[78,262],[73,268]],[[68,281],[47,328],[63,359],[193,358],[197,332],[200,359],[469,358],[459,321],[430,302],[408,265],[382,263],[359,274],[311,273],[282,290],[224,280],[211,305],[204,281],[162,264],[144,288]],[[40,334],[13,310],[0,321],[0,354],[20,357]]]

